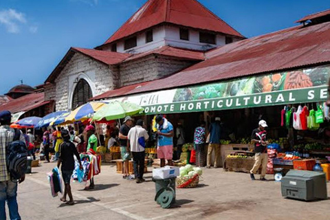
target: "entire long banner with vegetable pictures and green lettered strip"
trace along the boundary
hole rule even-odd
[[[220,83],[155,91],[119,98],[146,114],[219,111],[327,100],[330,66],[263,74]]]

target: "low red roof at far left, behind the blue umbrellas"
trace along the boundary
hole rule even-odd
[[[41,107],[50,101],[45,101],[45,94],[28,94],[21,98],[10,100],[6,104],[0,105],[0,111],[10,111],[11,113],[17,113],[19,111],[30,111],[37,107]]]

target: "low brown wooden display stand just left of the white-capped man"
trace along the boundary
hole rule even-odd
[[[226,171],[250,173],[254,165],[254,158],[225,158]]]

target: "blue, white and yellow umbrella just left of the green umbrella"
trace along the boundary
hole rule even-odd
[[[101,107],[107,104],[106,102],[88,102],[82,106],[74,109],[67,117],[65,118],[65,123],[72,123],[77,121],[85,121],[89,118],[92,118],[94,113],[98,111]]]

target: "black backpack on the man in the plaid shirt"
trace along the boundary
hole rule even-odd
[[[20,136],[21,131],[15,130],[14,140],[8,145],[6,151],[7,168],[12,181],[21,179],[28,165],[28,148],[25,142],[19,140]]]

